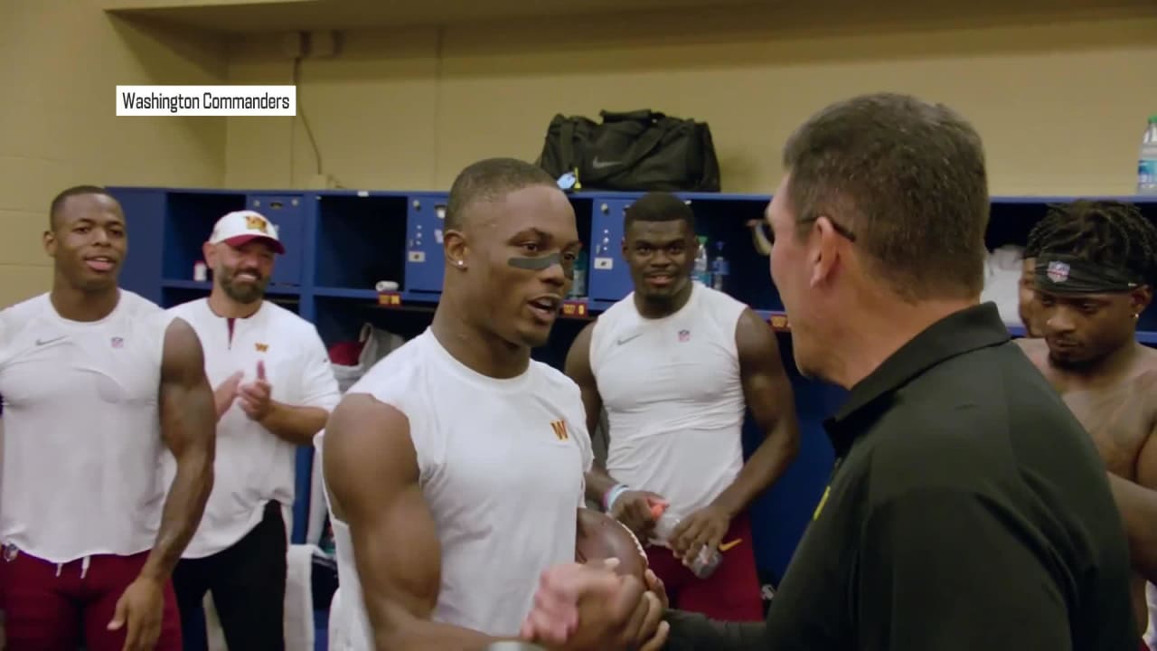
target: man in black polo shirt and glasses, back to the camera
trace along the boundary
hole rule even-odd
[[[977,132],[861,96],[808,120],[783,166],[772,276],[799,371],[850,389],[826,423],[837,463],[767,621],[670,612],[666,649],[1136,651],[1104,465],[979,302]]]

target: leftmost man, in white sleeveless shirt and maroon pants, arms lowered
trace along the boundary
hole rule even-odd
[[[8,645],[179,650],[170,576],[213,484],[200,343],[117,286],[127,234],[103,189],[61,192],[44,247],[52,290],[0,312]]]

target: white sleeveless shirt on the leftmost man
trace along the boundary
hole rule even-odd
[[[52,563],[153,547],[170,321],[125,290],[101,321],[65,320],[47,294],[0,312],[3,543]]]

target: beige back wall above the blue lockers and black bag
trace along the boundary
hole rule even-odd
[[[1157,112],[1157,87],[1144,82],[1157,71],[1157,12],[1097,8],[1106,3],[949,1],[928,13],[826,0],[355,31],[337,58],[302,64],[299,105],[323,171],[348,188],[444,189],[472,160],[535,158],[555,112],[651,108],[709,122],[724,190],[767,192],[794,125],[834,98],[892,89],[970,117],[996,193],[1130,193]],[[283,82],[290,71],[274,41],[231,49],[234,82]],[[316,171],[289,118],[230,119],[228,142],[230,186],[301,185]]]

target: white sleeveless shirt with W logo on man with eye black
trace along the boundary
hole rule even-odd
[[[576,510],[594,459],[578,387],[539,361],[514,379],[481,375],[427,329],[348,393],[369,394],[410,420],[442,550],[432,619],[517,635],[541,572],[575,557]],[[345,648],[370,650],[349,529],[331,520],[341,593],[337,628]]]

